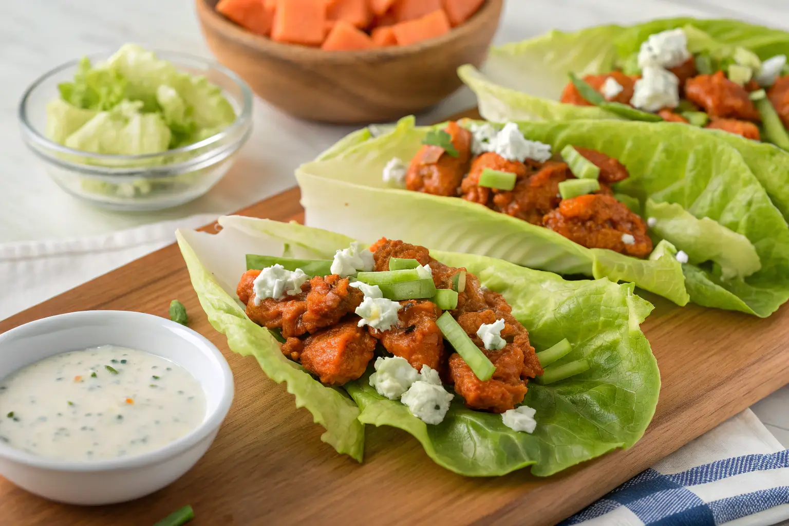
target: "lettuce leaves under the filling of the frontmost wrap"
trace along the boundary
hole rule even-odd
[[[405,405],[381,397],[365,375],[343,388],[323,386],[286,359],[269,330],[245,315],[236,283],[248,253],[331,259],[350,237],[295,223],[230,216],[218,234],[178,231],[178,244],[208,320],[226,335],[235,353],[255,356],[264,373],[286,382],[326,432],[321,439],[361,461],[364,426],[398,427],[413,435],[428,457],[464,476],[499,476],[531,467],[549,476],[616,448],[632,446],[655,412],[660,373],[639,325],[652,305],[631,284],[607,279],[567,282],[555,274],[498,259],[451,252],[431,255],[466,267],[482,285],[502,293],[537,349],[567,338],[572,352],[557,364],[586,358],[589,371],[546,386],[529,383],[524,404],[537,409],[537,429],[513,431],[502,417],[453,401],[446,418],[427,425]],[[407,240],[406,240],[407,241]]]

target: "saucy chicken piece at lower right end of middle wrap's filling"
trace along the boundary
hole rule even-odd
[[[587,248],[608,248],[645,258],[652,240],[644,221],[611,196],[587,194],[563,200],[544,218],[544,226]]]

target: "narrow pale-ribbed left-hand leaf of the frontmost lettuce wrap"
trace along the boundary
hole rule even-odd
[[[326,429],[320,437],[323,442],[338,453],[346,453],[361,462],[365,429],[357,420],[357,406],[342,390],[323,386],[299,364],[288,360],[271,332],[252,323],[236,299],[232,284],[245,270],[244,251],[266,253],[273,249],[281,253],[282,244],[277,248],[277,244],[261,243],[254,237],[245,243],[244,235],[232,230],[228,227],[228,233],[223,231],[215,236],[191,230],[176,233],[189,277],[208,321],[225,334],[227,345],[234,353],[255,356],[270,379],[286,382],[288,393],[296,398],[296,407],[307,408],[313,420]]]

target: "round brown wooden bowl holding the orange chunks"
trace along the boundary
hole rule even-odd
[[[392,121],[460,87],[457,69],[484,61],[503,0],[487,0],[465,23],[410,46],[324,51],[255,35],[195,0],[213,54],[257,95],[299,118],[342,124]]]

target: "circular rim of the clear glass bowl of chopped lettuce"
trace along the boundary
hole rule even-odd
[[[33,126],[28,118],[28,110],[27,110],[27,103],[28,99],[30,99],[33,91],[36,91],[36,88],[39,88],[43,82],[48,80],[51,76],[54,76],[58,73],[61,73],[65,69],[73,68],[74,66],[78,65],[80,61],[87,57],[91,59],[91,62],[95,62],[99,59],[107,58],[112,54],[112,52],[96,52],[88,55],[84,55],[84,57],[74,58],[73,60],[69,60],[68,62],[63,62],[60,65],[55,66],[54,68],[48,70],[45,73],[42,73],[40,76],[33,80],[32,84],[28,86],[24,90],[24,93],[21,96],[21,99],[17,105],[17,120],[20,123],[22,132],[24,136],[28,137],[28,139],[36,144],[37,146],[46,148],[47,151],[56,151],[61,154],[67,155],[76,155],[78,157],[83,157],[85,159],[94,159],[97,161],[144,161],[148,159],[155,159],[158,157],[162,157],[163,155],[178,155],[178,154],[185,154],[190,153],[195,150],[199,150],[201,148],[211,146],[211,144],[218,143],[225,139],[227,136],[230,136],[237,132],[239,129],[243,129],[249,126],[249,123],[252,121],[252,104],[253,104],[253,95],[252,90],[246,84],[246,82],[241,79],[241,76],[238,76],[234,71],[226,68],[224,65],[211,60],[210,58],[203,58],[199,57],[194,54],[183,53],[181,51],[168,51],[168,50],[159,50],[159,49],[150,49],[146,48],[146,50],[152,51],[157,58],[163,58],[164,60],[168,60],[170,62],[174,62],[174,65],[178,69],[178,58],[181,58],[186,61],[191,62],[199,62],[201,65],[204,65],[208,68],[213,68],[218,70],[223,75],[230,78],[230,80],[241,90],[241,110],[236,115],[235,120],[227,126],[225,129],[222,129],[219,133],[215,133],[210,137],[206,137],[204,140],[200,140],[193,144],[188,144],[186,146],[174,148],[172,150],[166,151],[158,151],[155,153],[149,154],[137,154],[137,155],[114,155],[114,154],[97,154],[90,151],[82,151],[82,150],[75,150],[73,148],[69,148],[63,144],[58,144],[53,140],[48,139],[46,136],[43,135],[42,132],[39,132],[35,126]],[[53,95],[57,97],[57,95]],[[37,150],[37,148],[36,148]],[[47,156],[47,159],[48,156]],[[189,159],[189,162],[192,159]],[[89,164],[84,163],[76,163],[76,162],[68,162],[69,166],[92,166]],[[163,165],[163,166],[178,166],[181,163],[175,163],[173,165]],[[94,167],[94,166],[92,166]],[[113,170],[110,167],[104,167],[106,170]],[[137,170],[144,169],[146,167],[140,166],[136,167]],[[129,168],[121,169],[121,170],[129,170]]]

